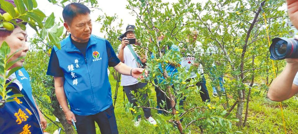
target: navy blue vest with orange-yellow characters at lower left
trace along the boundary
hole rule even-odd
[[[0,108],[0,134],[19,134],[21,132],[43,134],[37,109],[29,100],[26,92],[21,92],[16,83],[11,83],[7,87],[7,90],[9,89],[12,89],[8,93],[9,96],[14,94],[23,94],[24,96],[15,98],[16,101],[6,102],[4,107]],[[2,99],[1,96],[0,99]]]

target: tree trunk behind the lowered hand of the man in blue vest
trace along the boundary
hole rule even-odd
[[[68,124],[65,118],[65,115],[60,108],[59,102],[55,95],[55,90],[52,91],[51,99],[51,106],[54,109],[53,114],[59,119],[60,123],[62,124],[66,134],[75,134],[74,128],[72,125]]]

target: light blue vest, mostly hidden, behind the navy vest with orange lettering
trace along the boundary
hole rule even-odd
[[[23,89],[21,92],[26,92],[32,104],[35,104],[32,98],[32,88],[31,88],[30,77],[28,72],[25,70],[25,68],[21,68],[17,70],[15,73],[16,73],[16,79],[19,80],[23,86]]]

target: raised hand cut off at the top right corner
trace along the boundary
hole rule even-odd
[[[298,29],[298,1],[287,0],[288,14],[292,24]]]

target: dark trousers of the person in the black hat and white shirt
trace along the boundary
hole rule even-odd
[[[124,87],[124,92],[125,92],[125,94],[128,98],[128,101],[130,103],[133,103],[133,106],[137,106],[137,104],[136,104],[137,100],[133,99],[134,95],[131,94],[131,91],[138,92],[139,88],[143,88],[146,85],[147,85],[147,83],[137,83],[137,84],[133,84],[133,85],[129,85],[129,86],[123,86]],[[147,96],[148,96],[147,93],[140,94],[140,95],[143,96],[143,98],[145,100],[147,99]],[[149,101],[147,101],[146,107],[150,107]],[[144,111],[144,117],[145,118],[149,118],[151,116],[151,110],[149,108],[143,108],[143,111]],[[131,113],[133,113],[133,111],[131,111]],[[141,118],[141,115],[139,115],[138,118]]]

